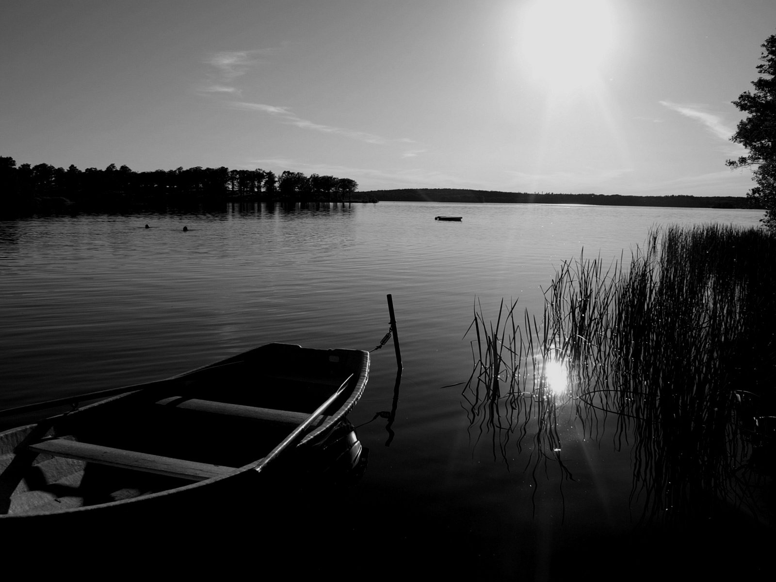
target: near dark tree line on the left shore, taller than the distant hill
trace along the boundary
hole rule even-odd
[[[123,209],[137,206],[179,206],[222,203],[228,200],[272,202],[339,202],[353,199],[359,185],[298,171],[175,168],[133,171],[126,165],[104,170],[74,165],[68,169],[49,164],[17,167],[13,158],[0,157],[0,213],[23,214],[68,206]]]

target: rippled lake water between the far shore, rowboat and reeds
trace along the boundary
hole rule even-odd
[[[761,215],[256,204],[0,222],[0,407],[171,376],[270,341],[372,350],[388,331],[390,293],[404,361],[390,443],[386,419],[373,419],[393,406],[392,343],[372,352],[369,385],[350,415],[369,448],[348,497],[365,560],[387,553],[430,571],[542,579],[598,539],[601,551],[618,548],[619,562],[613,540],[636,531],[639,516],[628,447],[584,438],[567,414],[559,430],[571,479],[553,462],[537,465],[530,437],[502,453],[493,431],[472,425],[462,386],[449,385],[472,371],[473,338],[463,335],[475,302],[494,321],[502,298],[540,316],[542,286],[583,249],[629,258],[656,225],[757,226]]]

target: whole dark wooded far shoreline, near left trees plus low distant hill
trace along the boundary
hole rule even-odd
[[[743,196],[623,196],[563,192],[497,192],[473,189],[393,189],[356,192],[351,178],[220,168],[133,171],[115,164],[104,170],[74,165],[17,166],[0,157],[0,216],[47,212],[163,210],[219,206],[227,202],[340,203],[442,202],[515,204],[592,204],[601,206],[677,206],[688,208],[758,208]]]

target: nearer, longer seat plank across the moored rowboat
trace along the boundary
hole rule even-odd
[[[101,465],[157,473],[191,481],[203,481],[212,477],[228,475],[234,467],[210,465],[205,462],[172,459],[145,452],[125,451],[102,445],[71,441],[66,438],[51,438],[27,445],[27,449],[50,455],[68,457]]]

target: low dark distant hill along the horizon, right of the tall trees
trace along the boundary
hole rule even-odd
[[[360,196],[384,202],[450,202],[512,204],[594,204],[600,206],[677,206],[684,208],[761,208],[746,196],[622,196],[619,194],[562,194],[494,192],[451,188],[369,190]]]

